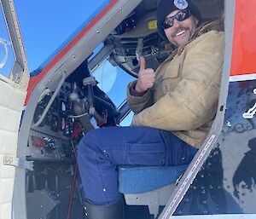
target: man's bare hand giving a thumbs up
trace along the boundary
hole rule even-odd
[[[138,72],[137,84],[135,89],[137,92],[143,93],[154,85],[155,74],[154,69],[146,68],[146,61],[142,56],[140,58],[140,71]]]

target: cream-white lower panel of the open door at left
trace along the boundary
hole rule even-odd
[[[10,219],[15,167],[3,165],[3,158],[16,157],[20,115],[26,92],[0,80],[0,94],[0,219]]]

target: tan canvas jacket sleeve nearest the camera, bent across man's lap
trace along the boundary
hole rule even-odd
[[[218,107],[224,60],[224,32],[211,31],[186,48],[183,79],[153,106],[134,116],[133,125],[160,130],[196,130],[211,121]]]

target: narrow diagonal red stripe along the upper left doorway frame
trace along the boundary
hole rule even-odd
[[[102,17],[108,13],[110,9],[113,8],[113,6],[118,2],[118,0],[112,0],[106,8],[104,8],[100,14],[98,14],[93,20],[90,21],[90,23],[84,27],[84,29],[79,32],[78,36],[74,37],[73,40],[67,44],[67,46],[63,49],[61,49],[61,52],[55,55],[55,58],[49,62],[47,66],[44,67],[43,71],[35,77],[32,77],[29,81],[28,84],[28,89],[27,89],[27,95],[26,95],[26,101],[25,101],[25,106],[27,104],[27,101],[29,100],[30,96],[32,95],[32,89],[38,84],[38,82],[44,78],[44,76],[49,72],[49,70],[55,66],[55,64],[60,61],[64,55],[67,54],[67,52],[73,48],[73,46],[79,42],[81,37],[84,37],[84,35],[90,31],[90,28],[95,26],[96,23],[102,19]]]

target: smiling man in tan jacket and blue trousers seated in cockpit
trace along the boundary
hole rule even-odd
[[[138,79],[127,89],[133,126],[93,130],[79,143],[90,219],[124,218],[118,165],[189,164],[215,117],[224,56],[221,24],[198,27],[200,11],[189,0],[158,1],[157,20],[160,36],[177,49],[156,72],[141,58]]]

